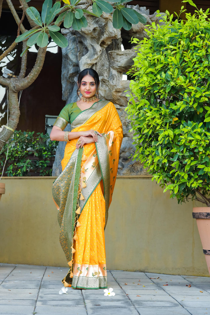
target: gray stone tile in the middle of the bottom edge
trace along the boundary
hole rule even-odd
[[[99,304],[99,303],[96,303]],[[133,307],[86,306],[88,315],[139,315]]]

